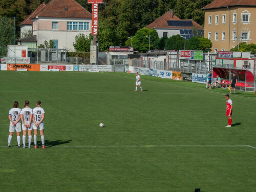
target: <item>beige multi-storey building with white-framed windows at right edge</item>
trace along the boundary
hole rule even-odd
[[[256,44],[256,0],[215,0],[205,11],[204,37],[212,51],[229,51],[241,42]]]

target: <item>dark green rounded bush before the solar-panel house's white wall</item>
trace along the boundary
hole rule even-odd
[[[187,40],[186,40],[187,42]],[[169,50],[184,50],[185,40],[180,35],[173,35],[169,37],[165,42],[165,49]]]

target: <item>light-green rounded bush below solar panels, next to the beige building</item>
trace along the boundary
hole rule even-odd
[[[194,36],[187,41],[187,50],[202,50],[207,51],[212,47],[212,42],[204,37]]]

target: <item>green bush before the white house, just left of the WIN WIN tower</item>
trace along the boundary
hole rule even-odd
[[[77,52],[89,52],[92,40],[92,34],[89,36],[84,36],[83,33],[79,33],[79,35],[75,36],[75,42],[73,42],[73,46]]]

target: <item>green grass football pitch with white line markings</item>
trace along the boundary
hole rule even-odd
[[[97,72],[0,71],[0,191],[255,191],[255,93]],[[46,148],[11,148],[17,100],[45,109]],[[103,122],[105,127],[99,127]],[[27,136],[28,141],[28,136]],[[21,141],[22,142],[22,141]]]

